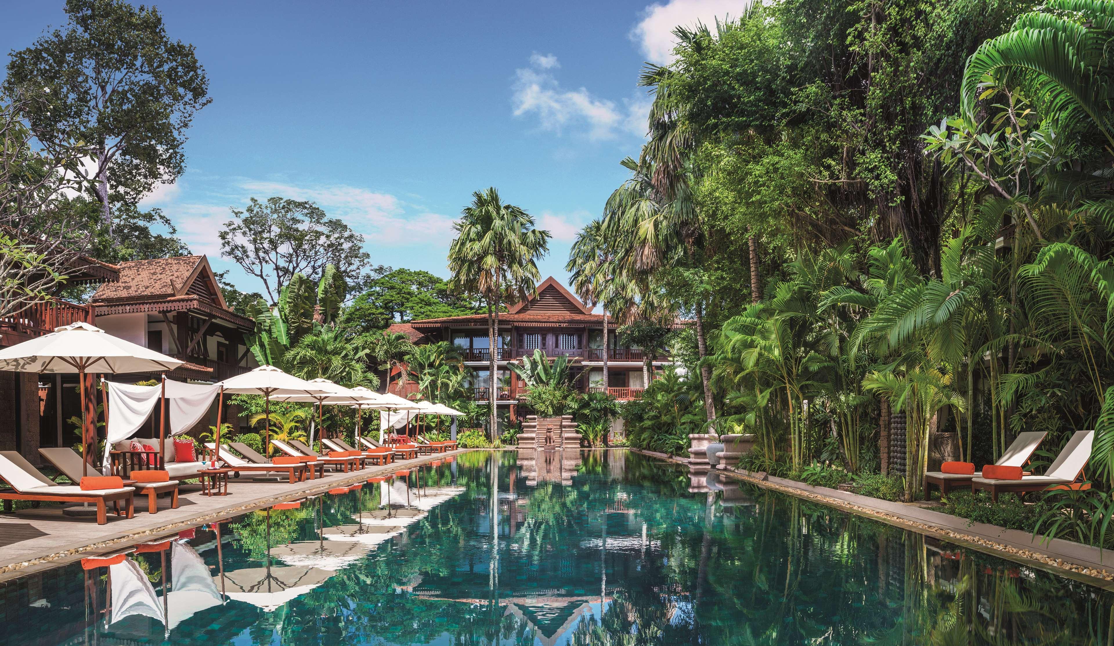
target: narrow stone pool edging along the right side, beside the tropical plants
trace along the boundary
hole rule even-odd
[[[674,456],[638,449],[632,450],[654,458],[687,464],[687,460]],[[1088,585],[1114,590],[1114,572],[1111,571],[1114,570],[1114,550],[1059,538],[1046,541],[1039,536],[1034,537],[1028,531],[1006,529],[997,525],[984,522],[968,525],[969,521],[966,518],[934,511],[917,505],[891,502],[827,487],[813,487],[763,472],[737,469],[735,471],[717,470],[716,473],[912,529],[920,534],[937,536],[949,542],[960,544],[1058,576],[1066,576]]]

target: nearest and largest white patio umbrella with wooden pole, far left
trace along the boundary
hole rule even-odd
[[[13,372],[77,373],[81,393],[81,474],[89,471],[86,434],[85,375],[87,372],[148,372],[174,370],[185,363],[162,352],[125,341],[88,323],[56,327],[50,334],[0,350],[0,370]]]

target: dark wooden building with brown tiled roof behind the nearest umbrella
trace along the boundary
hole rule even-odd
[[[0,348],[41,336],[60,325],[85,322],[185,361],[167,374],[168,379],[216,382],[257,365],[246,346],[246,335],[254,331],[255,322],[228,307],[205,256],[119,265],[82,257],[75,263],[68,284],[95,285],[96,292],[87,304],[51,300],[0,321]],[[135,383],[159,375],[105,376]],[[95,392],[95,381],[88,383],[87,394],[99,402],[101,395]],[[31,463],[40,464],[40,447],[76,443],[78,423],[74,420],[81,417],[77,384],[76,373],[0,372],[0,415],[16,420],[0,429],[0,450],[19,451]],[[225,421],[236,423],[235,414],[228,410]],[[201,424],[214,421],[203,420]]]

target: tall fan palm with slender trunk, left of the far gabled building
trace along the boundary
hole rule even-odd
[[[488,314],[489,371],[491,379],[490,433],[498,437],[499,310],[509,298],[524,300],[535,290],[537,261],[549,252],[549,232],[535,228],[534,217],[522,208],[504,204],[495,187],[472,194],[472,203],[452,225],[456,239],[449,247],[449,285],[483,298]]]

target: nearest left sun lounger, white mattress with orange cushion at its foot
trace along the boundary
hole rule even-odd
[[[0,451],[0,480],[11,486],[11,491],[0,491],[4,511],[11,510],[12,500],[92,502],[97,506],[97,525],[105,525],[108,522],[107,505],[111,502],[116,515],[121,516],[120,502],[124,502],[127,517],[135,516],[135,489],[131,487],[84,490],[79,484],[58,484],[16,451]]]

